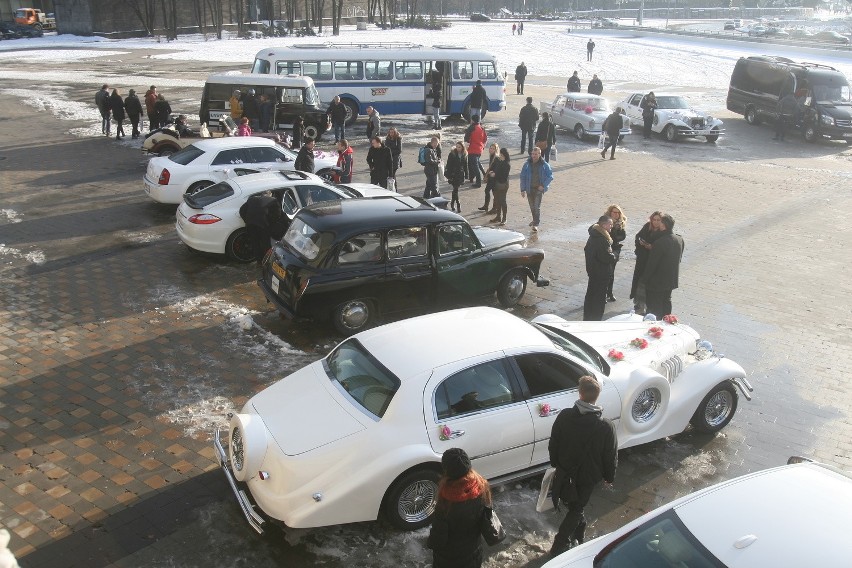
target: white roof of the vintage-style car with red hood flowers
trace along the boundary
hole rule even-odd
[[[448,333],[456,339],[442,339]],[[410,318],[355,337],[401,381],[448,363],[504,349],[553,349],[547,336],[526,321],[482,306]],[[413,345],[419,347],[412,349]]]

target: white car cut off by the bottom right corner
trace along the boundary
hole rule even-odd
[[[852,475],[799,459],[677,499],[544,568],[848,566]]]

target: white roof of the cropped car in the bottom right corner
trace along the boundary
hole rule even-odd
[[[729,568],[836,566],[852,555],[852,478],[803,463],[733,479],[674,507]],[[750,545],[739,539],[754,535]]]

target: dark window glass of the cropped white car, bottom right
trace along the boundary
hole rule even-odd
[[[604,548],[594,562],[595,568],[635,566],[725,568],[671,509]]]

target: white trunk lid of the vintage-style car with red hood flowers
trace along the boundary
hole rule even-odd
[[[281,451],[295,456],[351,436],[361,424],[346,408],[317,361],[254,396],[249,406],[263,419]]]

